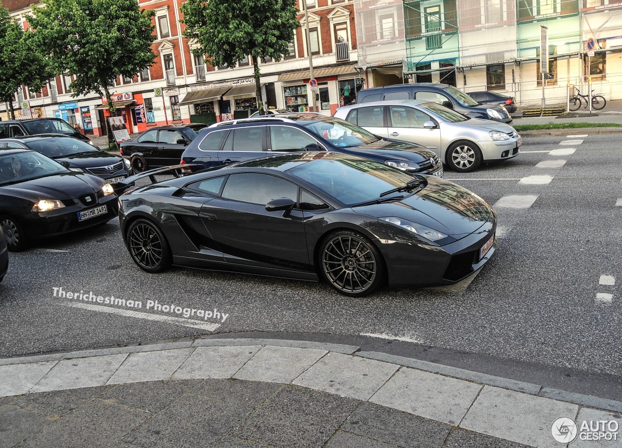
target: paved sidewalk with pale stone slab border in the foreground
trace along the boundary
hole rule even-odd
[[[622,403],[353,345],[196,341],[0,360],[0,448],[559,447]],[[583,441],[576,447],[622,447]]]

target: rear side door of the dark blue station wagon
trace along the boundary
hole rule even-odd
[[[221,165],[242,162],[269,155],[266,147],[266,127],[246,126],[231,129],[223,149],[218,153]]]

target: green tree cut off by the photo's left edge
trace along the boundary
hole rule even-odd
[[[52,77],[49,61],[39,51],[34,33],[24,31],[22,24],[0,7],[0,101],[9,103],[15,118],[13,96],[22,85],[38,92]]]

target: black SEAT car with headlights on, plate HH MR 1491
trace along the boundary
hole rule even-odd
[[[117,210],[113,187],[101,178],[35,151],[0,151],[0,226],[9,250],[108,222]]]

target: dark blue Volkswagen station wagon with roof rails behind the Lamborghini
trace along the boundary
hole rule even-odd
[[[181,163],[201,165],[183,170],[190,173],[295,151],[343,152],[410,173],[443,176],[442,162],[429,149],[384,139],[345,120],[320,114],[282,114],[213,124],[200,130],[183,152]]]

